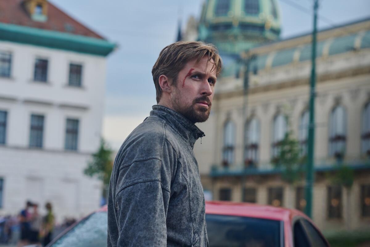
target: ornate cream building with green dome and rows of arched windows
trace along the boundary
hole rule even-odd
[[[276,1],[259,0],[206,1],[198,30],[225,66],[194,148],[206,193],[304,210],[304,177],[287,183],[272,160],[288,131],[305,156],[311,35],[279,40]],[[316,56],[313,220],[322,230],[369,226],[370,20],[320,31]],[[347,187],[333,179],[342,166]]]

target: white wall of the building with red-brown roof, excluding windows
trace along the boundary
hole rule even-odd
[[[11,77],[0,77],[0,110],[7,111],[0,145],[4,178],[0,214],[17,214],[26,200],[51,201],[57,220],[100,206],[102,184],[83,174],[102,129],[105,57],[0,41],[12,53]],[[33,81],[36,58],[48,59],[47,83]],[[68,86],[69,64],[83,65],[82,87]],[[43,148],[28,148],[31,114],[44,115]],[[79,119],[77,151],[65,151],[67,118]]]

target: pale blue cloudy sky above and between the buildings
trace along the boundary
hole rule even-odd
[[[178,20],[184,28],[189,16],[199,18],[204,0],[50,1],[118,45],[107,57],[102,130],[111,148],[118,150],[156,104],[151,70],[159,52],[175,41]],[[282,26],[280,38],[312,30],[313,0],[277,1]],[[292,4],[308,11],[301,11]],[[370,17],[370,0],[319,1],[319,30],[367,17]]]

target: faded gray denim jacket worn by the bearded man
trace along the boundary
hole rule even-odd
[[[108,247],[208,246],[203,187],[193,152],[203,136],[181,114],[153,106],[114,161]]]

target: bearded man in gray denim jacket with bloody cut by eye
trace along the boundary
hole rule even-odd
[[[108,246],[208,246],[194,123],[211,111],[221,59],[215,46],[176,42],[153,66],[157,104],[126,138],[108,195]]]

